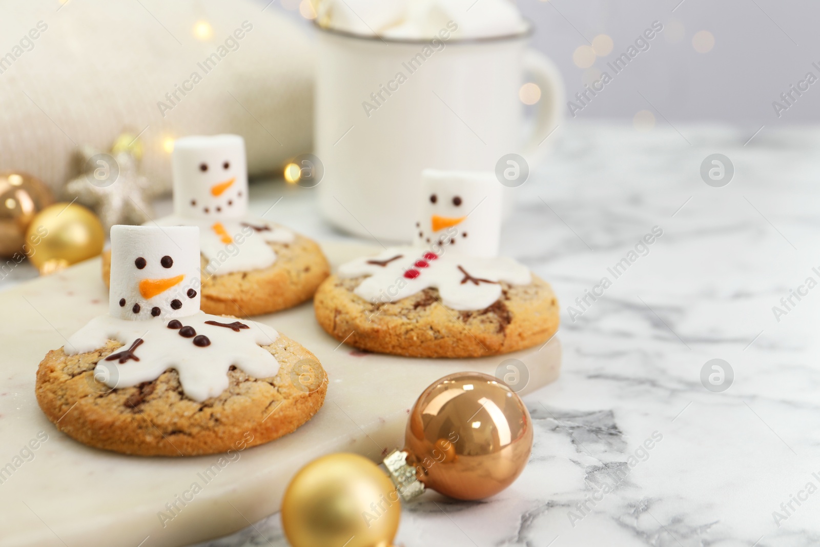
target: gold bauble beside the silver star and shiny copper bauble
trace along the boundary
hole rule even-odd
[[[76,203],[54,203],[32,219],[26,253],[40,273],[96,257],[103,252],[105,232],[98,217]]]

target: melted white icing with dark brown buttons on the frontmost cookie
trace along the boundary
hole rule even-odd
[[[185,338],[180,329],[171,329],[170,321],[191,326],[196,335],[207,336],[210,344],[194,344],[194,337]],[[234,330],[225,326],[207,325],[205,321],[223,324],[239,323],[248,328]],[[198,312],[188,317],[155,317],[144,321],[128,321],[103,315],[94,317],[68,340],[66,354],[87,353],[101,349],[108,340],[124,344],[112,355],[129,349],[135,340],[143,342],[134,348],[139,361],[103,358],[94,368],[94,376],[111,388],[124,388],[156,380],[169,368],[180,375],[185,395],[202,402],[216,397],[228,388],[231,365],[257,379],[271,378],[279,372],[279,362],[262,345],[279,338],[276,330],[255,321],[238,320]],[[109,355],[108,358],[112,356]]]

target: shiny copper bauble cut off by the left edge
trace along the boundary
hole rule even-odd
[[[53,202],[43,181],[25,173],[0,172],[0,257],[28,253],[25,229],[34,215]]]

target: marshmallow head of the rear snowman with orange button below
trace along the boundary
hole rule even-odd
[[[176,215],[228,220],[248,212],[245,141],[238,134],[176,139],[171,163]]]

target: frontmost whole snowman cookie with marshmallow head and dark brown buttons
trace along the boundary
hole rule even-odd
[[[40,408],[67,435],[124,454],[214,454],[286,435],[321,407],[326,372],[307,349],[194,309],[197,230],[112,228],[111,312],[37,372]]]

